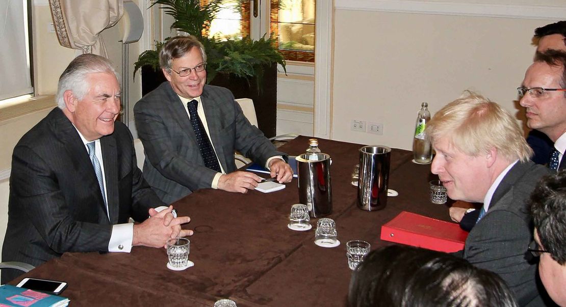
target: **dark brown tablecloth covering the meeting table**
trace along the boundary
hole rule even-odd
[[[308,146],[298,137],[280,150],[298,155]],[[134,247],[131,253],[66,253],[23,277],[63,280],[72,306],[212,306],[230,298],[238,306],[344,306],[351,271],[345,244],[362,239],[372,249],[391,244],[379,239],[380,227],[402,210],[447,220],[443,205],[428,201],[430,165],[416,165],[406,150],[393,149],[387,207],[367,212],[356,206],[351,172],[362,145],[319,139],[333,159],[333,212],[340,246],[314,244],[312,230],[291,231],[291,205],[298,202],[297,179],[282,191],[246,194],[203,189],[174,203],[191,217],[190,260],[195,266],[171,271],[165,249]],[[17,283],[21,278],[14,280]]]

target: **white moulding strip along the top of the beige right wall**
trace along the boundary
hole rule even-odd
[[[424,0],[335,0],[337,10],[563,20],[566,6],[504,5]]]

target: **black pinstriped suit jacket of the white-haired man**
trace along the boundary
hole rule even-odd
[[[14,148],[8,228],[2,261],[37,266],[65,252],[108,251],[112,224],[143,221],[162,205],[136,166],[132,136],[121,122],[100,139],[110,221],[87,149],[55,108]],[[2,270],[2,282],[21,271]]]

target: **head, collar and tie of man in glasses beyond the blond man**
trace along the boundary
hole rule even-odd
[[[566,53],[546,50],[535,55],[525,73],[518,94],[526,108],[527,126],[544,133],[554,142],[548,167],[566,168]]]

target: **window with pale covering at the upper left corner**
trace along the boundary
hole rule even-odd
[[[0,101],[33,93],[29,8],[31,0],[0,1]]]

